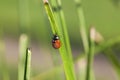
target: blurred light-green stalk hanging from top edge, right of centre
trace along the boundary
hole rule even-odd
[[[88,35],[86,32],[86,25],[85,25],[86,23],[85,23],[85,16],[84,16],[83,7],[82,7],[82,0],[75,0],[75,3],[77,7],[79,27],[80,27],[83,47],[85,50],[85,54],[87,54],[89,51],[89,43],[88,43]]]

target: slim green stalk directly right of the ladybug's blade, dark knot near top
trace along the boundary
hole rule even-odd
[[[61,0],[54,0],[54,2],[57,2],[56,3],[56,13],[58,15],[58,18],[59,18],[59,21],[60,21],[60,24],[61,24],[61,28],[62,28],[62,32],[63,32],[63,36],[64,36],[64,41],[65,41],[65,47],[66,47],[66,51],[67,51],[67,54],[71,60],[71,62],[73,63],[73,60],[72,60],[72,51],[71,51],[71,46],[70,46],[70,41],[69,41],[69,36],[68,36],[68,31],[67,31],[67,25],[66,25],[66,22],[65,22],[65,17],[64,17],[64,13],[63,13],[63,9],[62,9],[62,4],[61,4]],[[73,64],[71,64],[72,66],[74,66]],[[74,71],[73,71],[74,73]],[[75,73],[74,73],[75,74]]]

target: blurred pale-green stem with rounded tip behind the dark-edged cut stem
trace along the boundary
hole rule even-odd
[[[26,49],[28,47],[28,37],[25,34],[20,36],[19,41],[19,63],[18,63],[18,80],[24,79],[24,64],[26,58]]]

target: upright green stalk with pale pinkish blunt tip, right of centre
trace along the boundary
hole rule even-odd
[[[87,56],[87,73],[86,73],[86,80],[94,80],[93,77],[93,61],[94,61],[94,53],[95,53],[95,28],[90,28],[90,48],[89,53]]]

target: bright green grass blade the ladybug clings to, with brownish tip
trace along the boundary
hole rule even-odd
[[[50,24],[51,24],[53,34],[57,33],[60,36],[60,41],[61,41],[62,46],[59,49],[59,52],[60,52],[60,55],[61,55],[61,58],[62,58],[62,61],[63,61],[66,78],[67,78],[67,80],[76,80],[75,74],[74,74],[73,61],[71,60],[71,58],[67,54],[62,32],[60,31],[58,25],[55,22],[56,19],[53,15],[53,12],[52,12],[52,9],[49,5],[48,0],[44,0],[43,2],[44,2],[44,6],[45,6],[45,10],[47,12],[48,18],[50,20]]]

